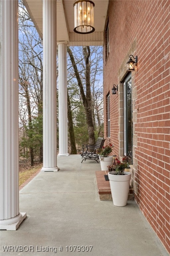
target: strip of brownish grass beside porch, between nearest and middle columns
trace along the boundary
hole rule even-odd
[[[28,180],[33,174],[38,172],[42,168],[42,164],[36,164],[33,167],[22,168],[19,171],[19,186],[21,186],[26,180]]]

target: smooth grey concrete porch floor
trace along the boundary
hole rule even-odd
[[[80,155],[70,155],[58,157],[57,165],[59,172],[40,172],[20,190],[20,212],[27,218],[17,231],[0,231],[0,255],[169,255],[135,201],[124,207],[100,201],[100,164],[81,164]],[[3,252],[4,246],[25,247]]]

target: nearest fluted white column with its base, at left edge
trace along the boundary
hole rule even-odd
[[[16,230],[19,212],[18,0],[0,0],[0,229]]]

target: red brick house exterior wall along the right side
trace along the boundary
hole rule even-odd
[[[132,76],[135,200],[170,253],[170,1],[110,1],[109,56],[104,43],[104,131],[114,154],[123,149],[123,80],[129,55]],[[106,20],[107,24],[107,20]],[[105,38],[105,35],[104,35]],[[118,93],[111,94],[113,84]],[[110,92],[111,137],[106,137]]]

